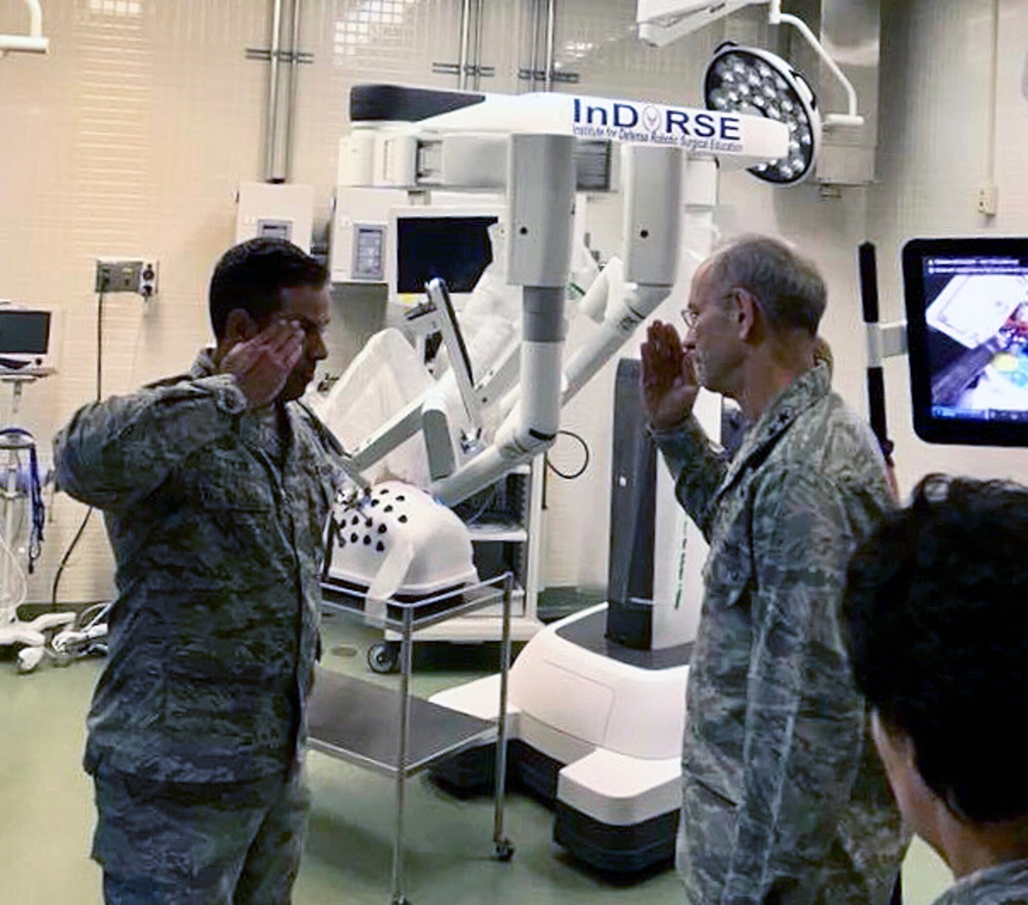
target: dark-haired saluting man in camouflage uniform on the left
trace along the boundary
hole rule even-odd
[[[217,347],[54,441],[61,487],[104,511],[117,562],[85,753],[108,903],[290,899],[337,474],[294,400],[326,355],[327,276],[287,242],[230,249]]]

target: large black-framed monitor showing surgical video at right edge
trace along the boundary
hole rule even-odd
[[[904,277],[918,435],[1028,444],[1028,239],[915,240]]]

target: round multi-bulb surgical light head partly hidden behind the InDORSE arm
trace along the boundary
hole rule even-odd
[[[788,126],[788,153],[749,172],[776,185],[795,185],[813,170],[821,140],[817,100],[803,74],[780,57],[731,41],[714,51],[703,79],[710,110],[776,119]]]

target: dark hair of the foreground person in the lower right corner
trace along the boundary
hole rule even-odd
[[[857,687],[974,823],[1028,816],[1028,487],[929,475],[849,566]]]

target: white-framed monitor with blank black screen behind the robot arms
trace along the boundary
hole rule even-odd
[[[426,284],[438,277],[460,311],[492,262],[489,227],[501,219],[498,207],[392,209],[393,242],[386,268],[390,301],[420,303]]]

